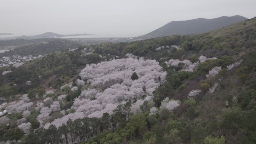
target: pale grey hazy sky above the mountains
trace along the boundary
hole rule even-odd
[[[256,0],[0,0],[0,33],[139,36],[170,21],[256,16]]]

